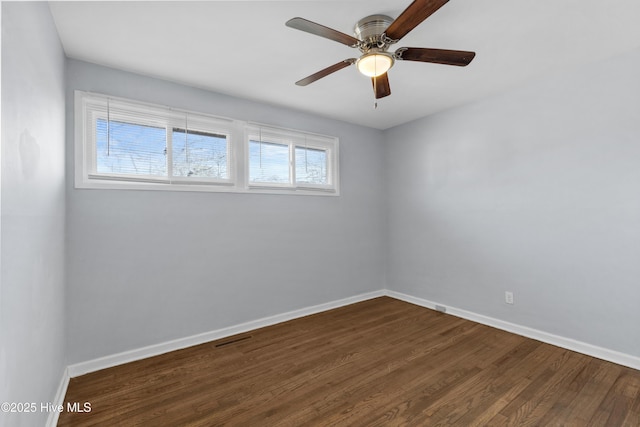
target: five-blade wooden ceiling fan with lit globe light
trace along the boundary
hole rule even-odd
[[[331,65],[317,73],[311,74],[296,82],[298,86],[306,86],[329,74],[355,64],[358,70],[371,77],[376,99],[391,95],[387,71],[395,61],[432,62],[436,64],[468,65],[476,55],[475,52],[445,49],[427,49],[419,47],[401,47],[389,52],[391,45],[400,41],[411,30],[417,27],[449,0],[414,0],[395,20],[386,15],[370,15],[362,18],[355,25],[356,37],[317,24],[304,18],[292,18],[287,27],[325,37],[362,52],[359,58],[349,58]]]

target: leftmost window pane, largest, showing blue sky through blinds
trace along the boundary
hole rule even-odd
[[[165,128],[98,119],[96,134],[98,173],[167,175]]]

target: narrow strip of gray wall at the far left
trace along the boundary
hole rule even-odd
[[[3,2],[0,402],[52,401],[66,366],[64,67],[48,5]]]

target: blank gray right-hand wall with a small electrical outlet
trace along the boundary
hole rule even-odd
[[[640,356],[639,73],[636,50],[386,131],[389,288]]]

